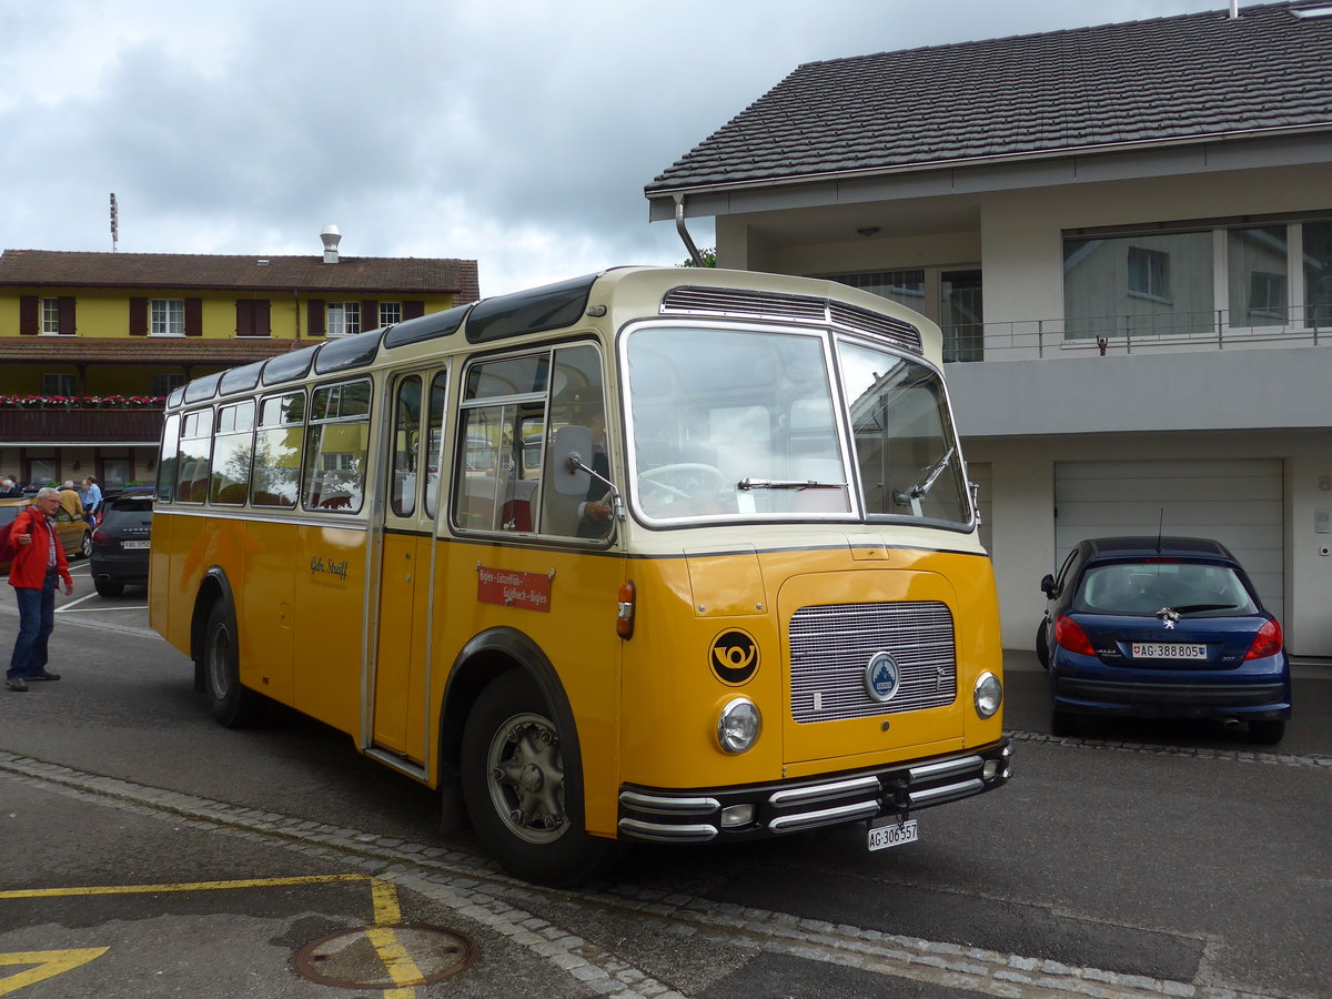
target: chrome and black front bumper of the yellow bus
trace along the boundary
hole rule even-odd
[[[968,753],[887,767],[743,787],[666,791],[623,785],[619,835],[650,843],[761,839],[864,822],[992,791],[1012,777],[1012,746],[1000,739]]]

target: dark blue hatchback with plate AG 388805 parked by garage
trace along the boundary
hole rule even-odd
[[[1036,655],[1051,726],[1079,715],[1215,718],[1276,743],[1291,717],[1281,626],[1224,545],[1203,538],[1090,538],[1040,589]]]

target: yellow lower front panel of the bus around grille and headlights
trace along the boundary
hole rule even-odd
[[[862,561],[851,545],[761,551],[761,578],[754,577],[749,553],[707,561],[709,587],[714,595],[729,594],[721,605],[697,599],[685,557],[630,563],[638,606],[623,667],[625,782],[662,789],[762,783],[882,766],[1000,738],[1002,711],[982,721],[971,703],[976,677],[986,670],[1003,677],[994,579],[983,554],[894,549],[887,558]],[[936,601],[950,609],[956,651],[952,702],[797,722],[785,634],[791,614],[807,606],[899,601]],[[711,662],[718,637],[733,630],[753,637],[759,655],[753,677],[738,685],[719,678]],[[763,715],[755,747],[739,755],[725,753],[715,731],[718,713],[735,697],[750,698]]]

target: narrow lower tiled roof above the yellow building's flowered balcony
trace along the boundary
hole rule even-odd
[[[240,337],[0,337],[5,364],[237,365],[285,354],[316,340]]]

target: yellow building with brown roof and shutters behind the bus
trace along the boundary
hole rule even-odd
[[[334,237],[336,237],[334,232]],[[153,476],[176,385],[476,301],[472,260],[0,253],[0,476]]]

